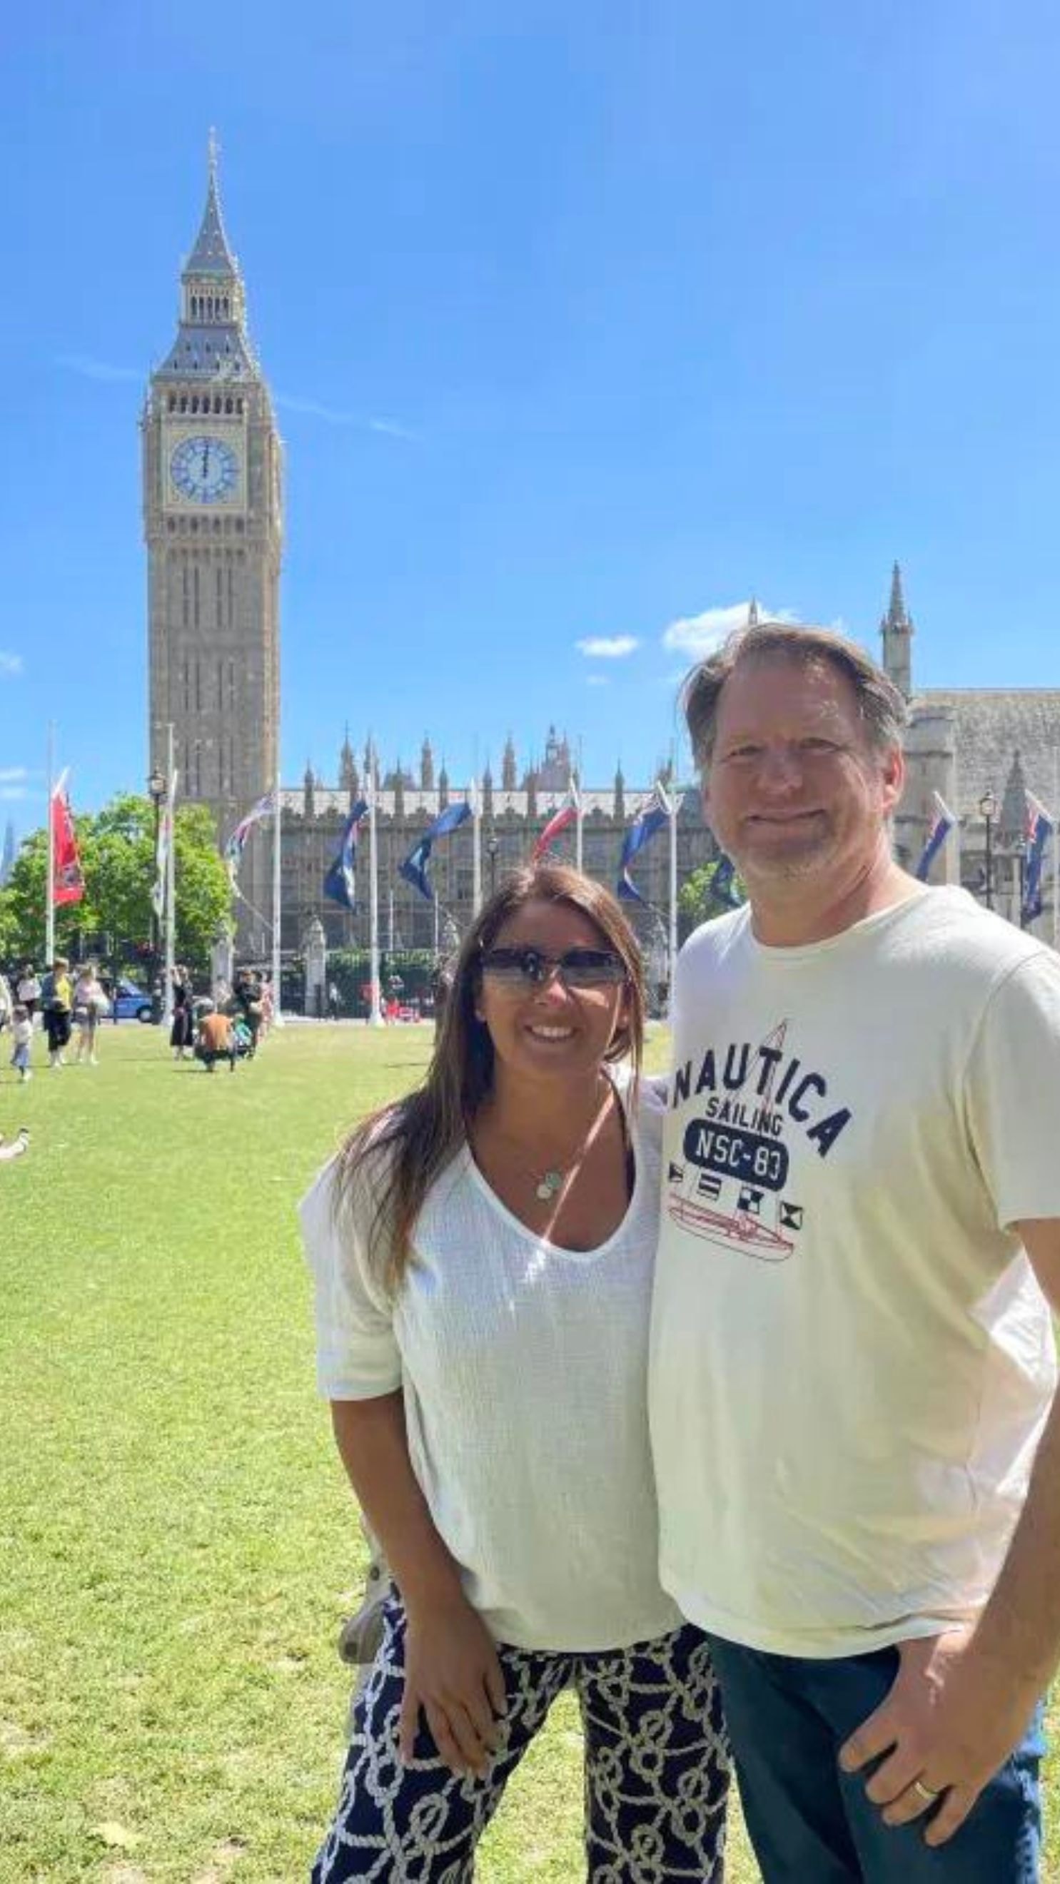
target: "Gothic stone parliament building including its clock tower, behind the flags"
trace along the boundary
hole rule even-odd
[[[279,754],[279,569],[283,554],[283,448],[268,382],[255,354],[245,286],[221,215],[211,143],[206,209],[181,273],[175,339],[155,369],[141,418],[143,528],[147,543],[149,763],[166,765],[174,727],[181,797],[204,803],[219,838],[273,788]],[[937,791],[960,818],[960,842],[939,853],[932,876],[962,880],[1003,914],[1019,914],[1019,859],[1026,791],[1051,810],[1060,750],[1060,690],[951,690],[913,686],[913,620],[894,569],[881,624],[883,665],[909,699],[907,788],[896,818],[896,848],[915,867]],[[336,729],[338,733],[338,729]],[[336,737],[336,776],[311,769],[281,789],[281,942],[296,950],[313,918],[328,946],[368,940],[368,895],[358,859],[358,908],[323,895],[351,804],[372,754],[355,752],[349,729]],[[375,759],[379,778],[379,908],[383,946],[430,948],[438,918],[398,867],[468,780],[451,780],[424,737],[415,771]],[[487,767],[479,788],[481,882],[522,863],[571,784],[566,735],[549,729],[541,755],[519,755],[511,737],[500,776]],[[628,784],[621,769],[600,789],[581,784],[583,863],[615,884],[622,836],[654,780]],[[981,804],[996,797],[992,842]],[[472,912],[472,823],[432,857],[441,908],[462,931]],[[270,910],[270,825],[247,844],[240,870],[240,942],[264,953]],[[571,855],[568,831],[556,855]],[[713,857],[696,788],[679,793],[679,882]],[[666,910],[668,844],[645,846],[636,882],[645,904]],[[985,880],[986,869],[986,880]],[[1051,878],[1047,876],[1047,908]],[[647,942],[651,908],[634,914]],[[1043,933],[1047,919],[1043,918]]]

